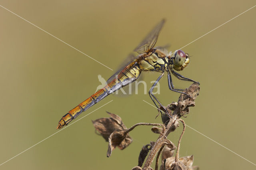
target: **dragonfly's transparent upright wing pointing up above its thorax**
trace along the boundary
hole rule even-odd
[[[144,40],[138,45],[134,51],[138,52],[139,54],[148,53],[152,48],[154,48],[159,32],[164,25],[165,20],[163,19],[159,24],[155,26],[155,28],[144,38]]]

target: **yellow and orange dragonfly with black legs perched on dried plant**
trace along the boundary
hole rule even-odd
[[[176,72],[181,71],[186,66],[188,66],[190,62],[190,56],[187,53],[184,53],[182,50],[176,50],[174,53],[170,52],[166,54],[167,52],[165,52],[162,48],[154,48],[158,39],[158,35],[164,23],[165,20],[163,19],[153,28],[153,30],[146,36],[146,38],[144,38],[144,40],[134,49],[135,52],[138,52],[138,56],[136,56],[124,68],[111,76],[107,81],[107,85],[104,86],[104,88],[98,90],[98,92],[92,94],[92,96],[90,96],[84,102],[80,103],[78,106],[70,110],[67,114],[62,116],[58,123],[57,129],[68,125],[68,123],[70,123],[73,119],[79,116],[82,112],[86,111],[88,108],[98,103],[106,96],[134,82],[144,71],[161,73],[161,75],[157,78],[157,80],[154,82],[148,92],[150,98],[158,109],[160,106],[162,106],[162,104],[159,102],[156,96],[152,94],[152,92],[159,80],[164,76],[165,72],[168,75],[167,77],[169,89],[174,92],[187,95],[186,93],[182,92],[182,89],[174,88],[171,74],[180,80],[195,82],[199,84],[199,82],[196,82],[190,78],[186,78]],[[162,108],[164,107],[162,106]]]

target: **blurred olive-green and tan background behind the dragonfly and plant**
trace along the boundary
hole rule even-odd
[[[36,26],[116,70],[127,54],[166,18],[158,45],[176,50],[255,5],[248,1],[8,1],[0,5]],[[201,83],[196,107],[186,124],[256,163],[255,40],[256,8],[183,48],[193,57],[181,73]],[[63,42],[0,8],[0,164],[57,132],[60,118],[94,93],[98,74],[114,71],[70,48]],[[144,72],[150,81],[158,73]],[[188,82],[174,80],[177,87]],[[168,89],[167,76],[160,81],[158,98],[164,104],[179,94]],[[143,91],[143,88],[142,88]],[[138,127],[134,142],[106,157],[107,142],[94,133],[91,120],[118,114],[127,127],[137,122],[160,122],[148,94],[110,95],[82,115],[86,118],[0,166],[12,170],[130,170],[138,164],[143,145],[156,140],[150,127]],[[79,116],[81,118],[82,116]],[[73,120],[74,121],[74,120]],[[169,135],[175,144],[182,128]],[[187,128],[180,156],[194,154],[201,170],[256,167],[236,154]]]

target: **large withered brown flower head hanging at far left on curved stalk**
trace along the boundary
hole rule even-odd
[[[116,146],[122,150],[132,143],[132,138],[126,132],[127,128],[122,119],[116,114],[107,113],[110,115],[110,118],[99,118],[92,121],[92,123],[102,137],[109,142],[107,152],[109,157]]]

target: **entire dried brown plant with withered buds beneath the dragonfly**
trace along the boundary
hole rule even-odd
[[[164,146],[167,146],[167,149],[169,151],[175,150],[176,156],[175,156],[175,162],[174,158],[172,157],[171,160],[168,160],[168,163],[166,160],[173,156],[173,151],[170,152],[167,155],[170,155],[169,157],[164,158],[164,161],[162,162],[161,168],[169,168],[169,169],[175,169],[175,170],[183,170],[188,169],[185,164],[187,164],[186,160],[192,160],[193,156],[190,156],[189,158],[183,157],[181,158],[181,162],[179,160],[179,151],[180,151],[180,142],[182,139],[182,136],[184,135],[186,124],[184,120],[180,119],[180,117],[184,116],[185,114],[189,113],[189,108],[195,106],[194,100],[199,94],[199,84],[193,83],[189,88],[185,89],[183,93],[180,95],[178,102],[172,102],[168,106],[160,106],[160,110],[164,111],[165,114],[162,116],[162,122],[164,124],[160,123],[137,123],[133,125],[131,128],[126,128],[124,123],[122,122],[122,119],[120,116],[116,114],[112,114],[108,112],[110,115],[110,118],[99,118],[97,120],[92,121],[94,124],[94,127],[100,134],[103,136],[105,140],[108,140],[108,151],[107,156],[109,157],[112,154],[112,150],[114,150],[116,147],[119,149],[126,148],[131,142],[132,138],[129,136],[129,132],[132,131],[137,126],[161,126],[160,127],[152,127],[151,131],[159,134],[156,142],[150,142],[150,144],[147,144],[142,147],[142,150],[140,151],[139,159],[138,159],[138,166],[135,166],[132,168],[132,170],[153,170],[151,168],[152,163],[154,162],[154,158],[156,158],[156,167],[155,170],[158,170],[158,164],[159,164],[159,157],[162,153],[162,150],[164,149]],[[176,128],[179,126],[179,121],[183,124],[183,130],[180,135],[180,139],[178,141],[178,146],[176,147],[172,141],[168,140],[167,136],[170,134],[170,132],[173,132],[176,130]],[[150,148],[148,148],[150,146]],[[149,153],[148,153],[149,152]],[[142,168],[143,162],[145,158],[147,157],[144,166]],[[184,162],[185,160],[185,163]],[[171,161],[171,162],[170,162]],[[172,163],[170,165],[170,163]],[[167,165],[166,165],[167,164]],[[188,165],[188,167],[191,167],[192,163]],[[190,168],[191,169],[191,168]]]

